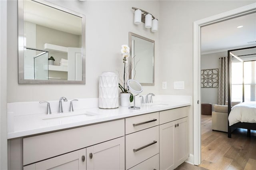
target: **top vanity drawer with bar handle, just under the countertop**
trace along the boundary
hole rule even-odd
[[[159,125],[159,112],[125,119],[125,134]]]

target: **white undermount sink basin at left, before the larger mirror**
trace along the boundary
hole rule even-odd
[[[53,113],[51,115],[44,115],[41,117],[42,120],[65,120],[65,119],[84,119],[86,117],[96,116],[97,114],[91,112],[70,112],[70,113]]]

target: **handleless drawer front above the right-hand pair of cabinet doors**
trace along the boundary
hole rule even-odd
[[[159,124],[162,125],[164,123],[175,121],[177,119],[181,119],[187,116],[188,116],[188,107],[180,107],[177,109],[161,111],[159,113]]]

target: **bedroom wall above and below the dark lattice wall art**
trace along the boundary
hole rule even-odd
[[[228,51],[201,55],[201,70],[219,69],[219,58],[227,55]],[[218,104],[218,88],[201,88],[201,103]]]

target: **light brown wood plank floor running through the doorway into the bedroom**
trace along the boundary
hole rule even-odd
[[[212,116],[202,115],[202,163],[193,166],[186,162],[177,170],[256,170],[256,131],[236,129],[232,138],[228,133],[212,131]]]

